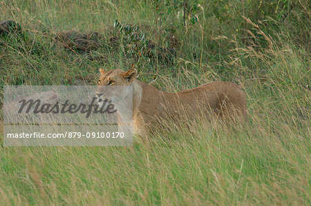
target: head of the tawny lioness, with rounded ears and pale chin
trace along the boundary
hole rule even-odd
[[[98,87],[95,92],[95,98],[99,105],[102,105],[104,99],[109,99],[115,103],[116,101],[122,101],[126,95],[129,94],[129,87],[137,76],[136,70],[110,70],[105,72],[100,68],[100,79],[98,80]],[[113,87],[124,86],[124,87]]]

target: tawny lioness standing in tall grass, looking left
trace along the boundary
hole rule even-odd
[[[216,116],[220,119],[229,117],[246,118],[245,92],[235,83],[211,82],[199,87],[181,92],[160,92],[155,87],[138,81],[136,70],[100,69],[101,76],[98,85],[132,85],[133,86],[133,132],[146,134],[150,126],[163,119],[181,121],[194,116]],[[98,87],[95,95],[97,100],[123,99],[126,92],[111,94]],[[112,102],[118,105],[117,102]],[[99,103],[100,104],[100,103]],[[118,109],[118,108],[117,108]],[[119,108],[120,109],[120,108]],[[119,112],[122,110],[118,110]],[[122,112],[120,112],[122,113]],[[122,116],[122,114],[118,114]]]

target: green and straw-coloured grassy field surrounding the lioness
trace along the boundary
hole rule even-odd
[[[159,130],[133,147],[3,147],[0,134],[0,205],[311,204],[310,2],[163,2],[0,0],[0,21],[22,29],[0,36],[1,90],[134,67],[164,91],[238,83],[248,123]]]

